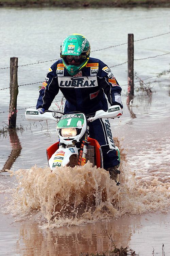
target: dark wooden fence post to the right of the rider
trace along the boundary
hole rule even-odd
[[[134,36],[128,34],[128,95],[134,95]]]

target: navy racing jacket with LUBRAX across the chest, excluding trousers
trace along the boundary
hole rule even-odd
[[[89,58],[86,66],[74,76],[69,75],[62,59],[57,60],[46,74],[36,108],[48,110],[59,90],[66,99],[65,114],[71,111],[85,114],[101,109],[106,111],[105,95],[111,105],[123,108],[122,89],[112,71],[99,59]]]

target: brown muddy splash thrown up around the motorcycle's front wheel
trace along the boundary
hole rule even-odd
[[[117,142],[118,144],[118,142]],[[169,211],[170,186],[158,178],[139,179],[130,171],[123,148],[120,148],[120,183],[110,180],[102,168],[92,168],[88,161],[82,167],[19,169],[13,199],[8,212],[17,217],[35,216],[41,227],[54,228],[109,220],[124,214],[147,211]]]

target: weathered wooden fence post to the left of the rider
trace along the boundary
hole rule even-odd
[[[17,96],[18,96],[18,58],[10,58],[10,109],[8,115],[8,129],[16,128]]]

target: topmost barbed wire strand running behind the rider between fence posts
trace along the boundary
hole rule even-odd
[[[161,35],[166,35],[166,34],[169,34],[169,33],[170,33],[170,32],[163,33],[163,34],[158,34],[158,35],[153,35],[152,37],[146,37],[146,38],[134,40],[134,42],[138,42],[138,41],[142,41],[142,40],[146,40],[146,39],[150,39],[150,38],[154,38],[154,37],[160,37]],[[101,48],[101,49],[97,49],[97,50],[91,51],[91,53],[92,53],[92,52],[97,52],[97,51],[102,51],[102,50],[109,49],[109,48],[113,48],[113,47],[117,47],[117,46],[121,46],[121,45],[125,45],[125,44],[128,44],[128,42],[127,42],[127,43],[122,43],[122,44],[117,44],[117,45],[108,46],[108,47]],[[59,59],[60,59],[60,58],[59,58]],[[39,63],[45,63],[45,62],[50,62],[50,61],[59,60],[59,59],[38,61],[38,62],[34,62],[34,63],[19,65],[18,67],[24,67],[24,66],[29,66],[29,65],[39,64]],[[10,67],[5,67],[5,68],[0,68],[0,69],[9,69],[9,68],[10,68]]]

